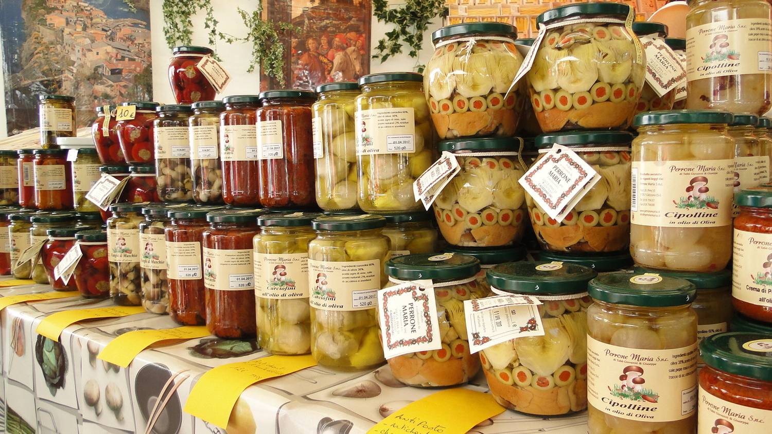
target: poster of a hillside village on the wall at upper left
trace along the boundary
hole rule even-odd
[[[37,96],[76,96],[78,126],[103,103],[151,96],[149,0],[2,0],[8,134],[38,124]]]

